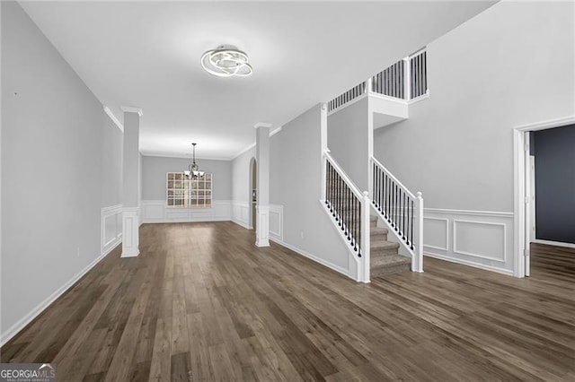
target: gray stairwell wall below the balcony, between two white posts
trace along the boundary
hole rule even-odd
[[[327,146],[333,159],[362,191],[367,191],[367,98],[327,117]]]

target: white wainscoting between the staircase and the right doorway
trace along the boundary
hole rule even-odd
[[[513,213],[426,208],[424,255],[513,274],[513,218]]]

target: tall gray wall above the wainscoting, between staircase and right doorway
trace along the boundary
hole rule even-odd
[[[513,212],[512,129],[575,114],[574,5],[501,2],[429,44],[429,99],[374,137],[426,207]]]

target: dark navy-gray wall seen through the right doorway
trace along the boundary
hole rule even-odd
[[[533,136],[535,236],[575,244],[575,125]]]

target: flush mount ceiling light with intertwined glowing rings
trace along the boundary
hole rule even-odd
[[[233,45],[221,45],[201,56],[201,66],[209,74],[218,77],[245,77],[253,72],[249,60],[245,52]]]

